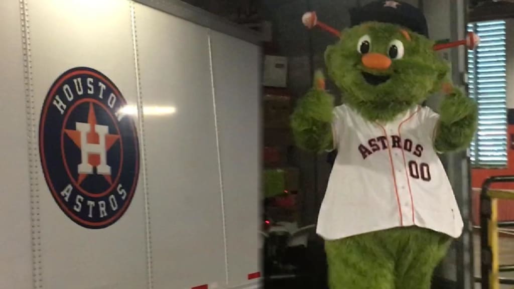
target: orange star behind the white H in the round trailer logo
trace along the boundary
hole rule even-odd
[[[87,115],[87,123],[91,126],[89,133],[87,133],[87,143],[91,144],[99,144],[99,135],[95,131],[95,125],[97,124],[95,110],[93,109],[93,103],[89,103],[89,113]],[[80,139],[80,131],[76,130],[64,130],[66,135],[75,143],[75,145],[80,149],[81,148],[81,139]],[[105,135],[105,151],[107,152],[111,147],[118,141],[120,135],[115,134],[106,134]],[[97,167],[100,165],[100,155],[98,154],[89,154],[88,155],[88,163],[93,167]],[[87,177],[87,174],[79,174],[77,179],[77,183],[80,185],[82,181]],[[113,183],[110,174],[103,174],[103,177],[107,180],[109,184]]]

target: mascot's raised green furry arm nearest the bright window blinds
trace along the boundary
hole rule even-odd
[[[462,150],[467,148],[475,134],[478,105],[460,89],[446,85],[444,91],[447,96],[439,107],[435,149],[439,152]]]

